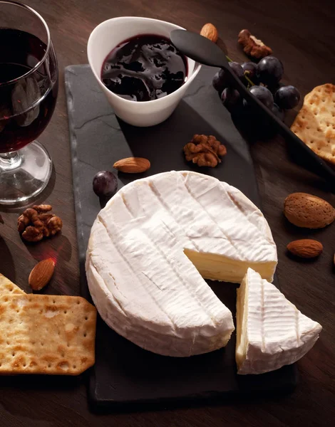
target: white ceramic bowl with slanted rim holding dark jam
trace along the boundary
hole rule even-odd
[[[121,16],[100,23],[88,39],[87,54],[96,80],[105,93],[115,114],[120,119],[134,126],[153,126],[166,120],[177,107],[185,91],[200,70],[200,64],[187,58],[187,80],[175,92],[153,101],[135,102],[115,95],[101,81],[101,68],[108,53],[127,38],[138,34],[158,34],[170,37],[176,29],[184,29],[170,22],[158,19],[140,18],[137,16]]]

